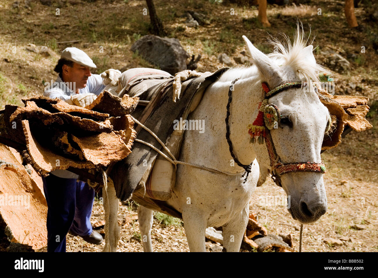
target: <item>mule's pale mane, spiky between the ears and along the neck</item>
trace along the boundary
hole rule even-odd
[[[272,53],[267,54],[277,65],[289,66],[296,73],[297,78],[302,82],[319,82],[319,74],[327,72],[327,69],[317,63],[311,63],[302,50],[307,46],[308,38],[305,39],[303,27],[297,25],[293,43],[288,36],[283,34],[285,42],[280,42],[277,38],[271,37],[268,42],[273,45]],[[312,43],[312,42],[311,42]],[[245,79],[252,76],[259,76],[256,65],[237,66],[226,71],[219,81],[233,81],[235,78]],[[257,80],[256,80],[257,81]],[[293,80],[295,81],[295,80]]]

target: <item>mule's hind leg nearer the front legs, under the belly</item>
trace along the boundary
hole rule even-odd
[[[138,207],[139,230],[141,230],[144,252],[153,252],[151,242],[151,228],[153,223],[152,210],[141,205]]]

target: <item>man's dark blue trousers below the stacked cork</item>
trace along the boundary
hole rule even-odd
[[[47,252],[66,252],[69,230],[79,236],[92,233],[90,217],[95,190],[76,179],[50,174],[43,178],[47,202]]]

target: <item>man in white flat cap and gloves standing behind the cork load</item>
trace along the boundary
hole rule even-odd
[[[90,68],[96,65],[84,51],[66,48],[54,68],[59,76],[43,95],[84,107],[104,90],[104,84],[115,84],[121,74],[110,69],[102,73],[107,77],[103,80],[100,75],[92,75]],[[77,178],[67,170],[52,171],[43,178],[48,205],[47,252],[65,252],[68,231],[92,244],[102,243],[102,236],[92,229],[90,222],[95,191]]]

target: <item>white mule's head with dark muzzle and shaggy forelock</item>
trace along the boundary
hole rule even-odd
[[[261,80],[270,89],[289,81],[319,81],[319,71],[312,45],[305,47],[303,35],[297,33],[294,44],[283,46],[273,41],[280,52],[265,55],[243,36]],[[307,83],[308,84],[308,83]],[[287,163],[321,163],[324,132],[330,124],[327,108],[320,102],[311,86],[286,89],[268,99],[281,114],[276,128],[270,130],[280,161]],[[265,144],[254,144],[259,163],[271,169]],[[318,220],[327,211],[327,197],[321,172],[289,172],[282,174],[281,185],[290,196],[289,211],[301,223]]]

